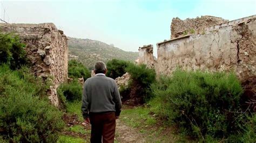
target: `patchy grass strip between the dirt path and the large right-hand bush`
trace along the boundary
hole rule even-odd
[[[175,134],[172,131],[173,127],[166,126],[161,120],[158,120],[148,106],[124,105],[123,108],[120,121],[132,127],[134,132],[139,134],[140,139],[145,139],[145,142],[187,141],[184,135]]]

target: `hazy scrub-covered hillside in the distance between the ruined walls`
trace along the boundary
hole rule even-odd
[[[96,61],[111,59],[134,61],[138,52],[126,52],[101,41],[71,38],[68,40],[69,59],[78,59],[88,68],[92,68]]]

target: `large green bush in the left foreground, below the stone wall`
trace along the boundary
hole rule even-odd
[[[10,142],[56,142],[64,122],[49,103],[41,78],[28,68],[0,66],[0,136]]]

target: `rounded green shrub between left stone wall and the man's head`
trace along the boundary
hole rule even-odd
[[[71,78],[81,78],[84,80],[91,77],[90,71],[83,65],[83,63],[76,60],[69,61],[69,77]]]

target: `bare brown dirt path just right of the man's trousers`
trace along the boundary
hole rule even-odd
[[[142,134],[125,125],[119,119],[116,120],[116,140],[118,142],[146,142]]]

